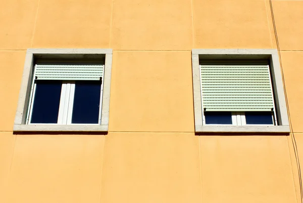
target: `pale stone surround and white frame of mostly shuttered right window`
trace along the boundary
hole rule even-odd
[[[206,125],[201,98],[199,60],[268,60],[275,101],[274,125],[246,125],[244,112],[233,112],[232,125]],[[196,133],[283,133],[290,132],[278,52],[275,49],[193,49],[192,77]],[[236,114],[236,115],[235,115]],[[236,117],[236,119],[234,118]],[[236,122],[235,122],[236,120]],[[235,125],[236,123],[236,125]],[[241,125],[238,125],[241,124]]]

